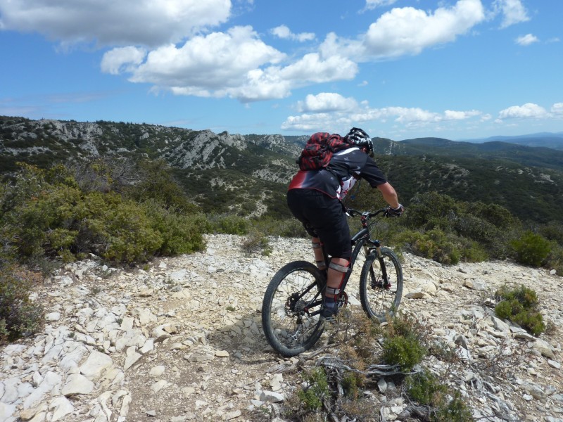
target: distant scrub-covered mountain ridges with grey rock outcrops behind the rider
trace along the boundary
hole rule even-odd
[[[89,157],[144,157],[170,165],[205,212],[289,217],[285,193],[308,135],[215,134],[153,124],[0,116],[0,173]],[[563,222],[563,151],[503,141],[374,138],[376,160],[405,205],[438,191],[498,203],[532,222]]]

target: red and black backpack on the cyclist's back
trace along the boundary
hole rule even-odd
[[[319,170],[329,165],[332,155],[338,151],[350,148],[346,138],[338,134],[327,132],[317,132],[312,134],[301,155],[297,159],[297,164],[301,170]]]

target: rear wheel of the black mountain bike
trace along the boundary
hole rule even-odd
[[[266,289],[262,302],[262,328],[268,343],[284,356],[309,350],[319,340],[324,324],[319,315],[324,279],[315,265],[295,261],[281,267]],[[314,308],[314,309],[313,309]]]

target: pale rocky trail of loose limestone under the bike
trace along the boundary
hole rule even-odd
[[[284,421],[279,409],[296,377],[279,367],[298,357],[273,352],[260,307],[279,267],[311,259],[310,243],[271,238],[270,256],[245,254],[239,236],[207,243],[205,252],[131,269],[92,257],[46,279],[34,294],[44,330],[0,348],[0,421]],[[463,363],[448,383],[475,418],[563,421],[563,279],[507,261],[403,259],[400,309],[457,345]],[[536,290],[546,333],[534,338],[494,317],[486,301],[505,283]],[[425,365],[447,370],[432,357]],[[384,420],[405,418],[400,397],[376,392],[374,400]]]

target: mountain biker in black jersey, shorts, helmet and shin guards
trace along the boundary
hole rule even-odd
[[[352,256],[348,219],[341,200],[358,179],[365,179],[372,188],[378,188],[389,204],[389,216],[400,217],[404,210],[395,189],[372,158],[374,146],[369,135],[353,127],[344,138],[350,148],[334,153],[326,169],[299,170],[287,191],[289,210],[312,236],[317,267],[327,275],[321,317],[331,322],[338,313],[336,298]],[[328,269],[321,245],[331,257]]]

